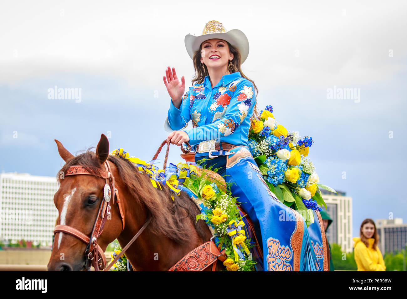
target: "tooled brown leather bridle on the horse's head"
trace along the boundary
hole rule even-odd
[[[88,244],[85,250],[85,268],[89,270],[92,265],[95,268],[95,271],[103,271],[106,266],[106,257],[102,248],[97,243],[97,238],[102,234],[103,227],[105,226],[106,220],[111,217],[111,205],[110,199],[112,190],[114,190],[113,204],[116,201],[118,204],[118,209],[120,217],[122,220],[122,232],[125,229],[125,215],[120,203],[120,197],[118,190],[114,187],[114,176],[110,169],[110,165],[105,161],[105,170],[96,169],[96,170],[87,170],[81,165],[69,166],[65,176],[68,175],[94,175],[96,177],[101,177],[105,179],[106,183],[103,188],[103,200],[100,203],[98,214],[93,225],[92,233],[90,237],[83,234],[81,231],[70,227],[69,225],[56,225],[54,229],[54,235],[58,232],[70,234],[77,239],[81,240],[85,244]],[[110,187],[112,186],[112,188]],[[110,215],[110,217],[109,217]],[[55,237],[56,238],[56,237]],[[109,267],[110,268],[110,267]]]

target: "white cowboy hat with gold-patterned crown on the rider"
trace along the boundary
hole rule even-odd
[[[193,59],[194,53],[200,50],[199,45],[212,38],[223,39],[228,41],[232,46],[238,48],[242,57],[241,63],[243,63],[249,55],[249,41],[242,31],[239,29],[226,31],[226,28],[222,23],[213,20],[206,23],[202,35],[185,35],[185,48],[189,57]]]

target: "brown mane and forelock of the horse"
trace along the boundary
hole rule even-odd
[[[89,171],[100,168],[96,153],[91,149],[88,148],[85,153],[70,159],[60,172],[66,173],[68,167],[73,165],[81,165]],[[150,212],[152,219],[149,229],[154,234],[164,234],[181,244],[190,240],[191,236],[187,232],[190,230],[190,222],[192,222],[199,237],[202,240],[205,239],[206,224],[203,220],[196,220],[196,215],[201,212],[186,192],[182,191],[177,196],[166,184],[160,182],[157,184],[160,184],[162,188],[155,188],[147,174],[140,172],[128,159],[109,155],[107,160],[116,165],[120,179],[131,196]],[[58,183],[60,183],[60,172],[57,175]],[[171,199],[171,194],[175,200]]]

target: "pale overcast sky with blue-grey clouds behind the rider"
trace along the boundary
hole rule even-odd
[[[0,4],[0,171],[55,176],[54,139],[76,153],[108,131],[111,150],[149,161],[168,135],[165,69],[190,86],[184,37],[218,20],[247,35],[242,68],[259,110],[272,105],[289,131],[312,136],[321,183],[352,197],[353,236],[364,218],[407,222],[405,1],[147,3]],[[55,86],[81,100],[48,98]],[[330,99],[330,88],[359,98]],[[168,161],[179,154],[171,146]]]

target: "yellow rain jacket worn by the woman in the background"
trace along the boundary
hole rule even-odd
[[[369,247],[361,242],[360,238],[353,238],[354,257],[357,271],[385,271],[383,256],[378,246],[376,250],[372,248],[373,238],[369,238]]]

